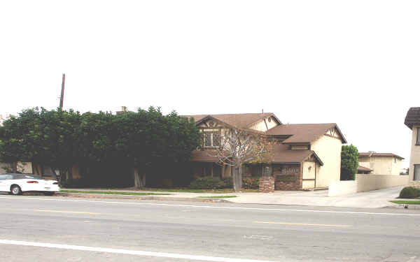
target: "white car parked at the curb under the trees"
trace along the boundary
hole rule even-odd
[[[44,180],[40,175],[0,174],[0,191],[20,195],[23,192],[42,192],[53,195],[59,191],[57,180]]]

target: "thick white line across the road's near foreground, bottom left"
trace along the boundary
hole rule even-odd
[[[231,258],[218,257],[218,256],[197,256],[197,255],[187,255],[187,254],[148,252],[148,251],[137,251],[137,250],[130,250],[130,249],[113,249],[113,248],[104,248],[104,247],[85,247],[85,246],[50,244],[50,243],[15,241],[15,240],[0,240],[0,244],[31,246],[31,247],[49,247],[49,248],[56,248],[56,249],[72,249],[72,250],[82,250],[82,251],[92,251],[92,252],[106,252],[106,253],[114,253],[114,254],[129,254],[129,255],[137,255],[137,256],[158,256],[158,257],[166,257],[166,258],[171,258],[171,259],[190,259],[190,260],[199,260],[199,261],[272,262],[272,261],[264,261],[264,260],[253,260],[253,259],[231,259]]]

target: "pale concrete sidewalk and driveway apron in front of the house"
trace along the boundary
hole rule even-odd
[[[351,194],[347,196],[330,196],[328,190],[320,191],[275,191],[274,193],[184,193],[165,191],[138,191],[138,190],[104,190],[104,189],[66,189],[78,191],[130,191],[137,193],[170,194],[162,196],[116,196],[104,194],[67,194],[69,196],[103,197],[103,198],[125,198],[141,200],[162,200],[162,201],[200,201],[200,202],[229,202],[241,204],[271,204],[271,205],[309,205],[309,206],[330,206],[346,208],[385,208],[398,207],[399,205],[388,202],[395,200],[402,187],[374,190]],[[65,194],[65,193],[64,193]],[[237,196],[235,198],[202,198],[207,196]]]

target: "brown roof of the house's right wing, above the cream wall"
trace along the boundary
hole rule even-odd
[[[347,143],[346,139],[339,131],[337,124],[281,124],[269,129],[266,133],[273,136],[290,136],[283,143],[311,143],[320,138],[329,129],[336,128],[342,137],[342,143]]]

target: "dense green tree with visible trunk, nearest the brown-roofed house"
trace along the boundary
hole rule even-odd
[[[120,161],[133,167],[134,187],[145,187],[147,174],[166,173],[162,167],[185,164],[200,145],[195,123],[176,112],[163,115],[151,107],[117,115],[116,122],[116,150]]]

